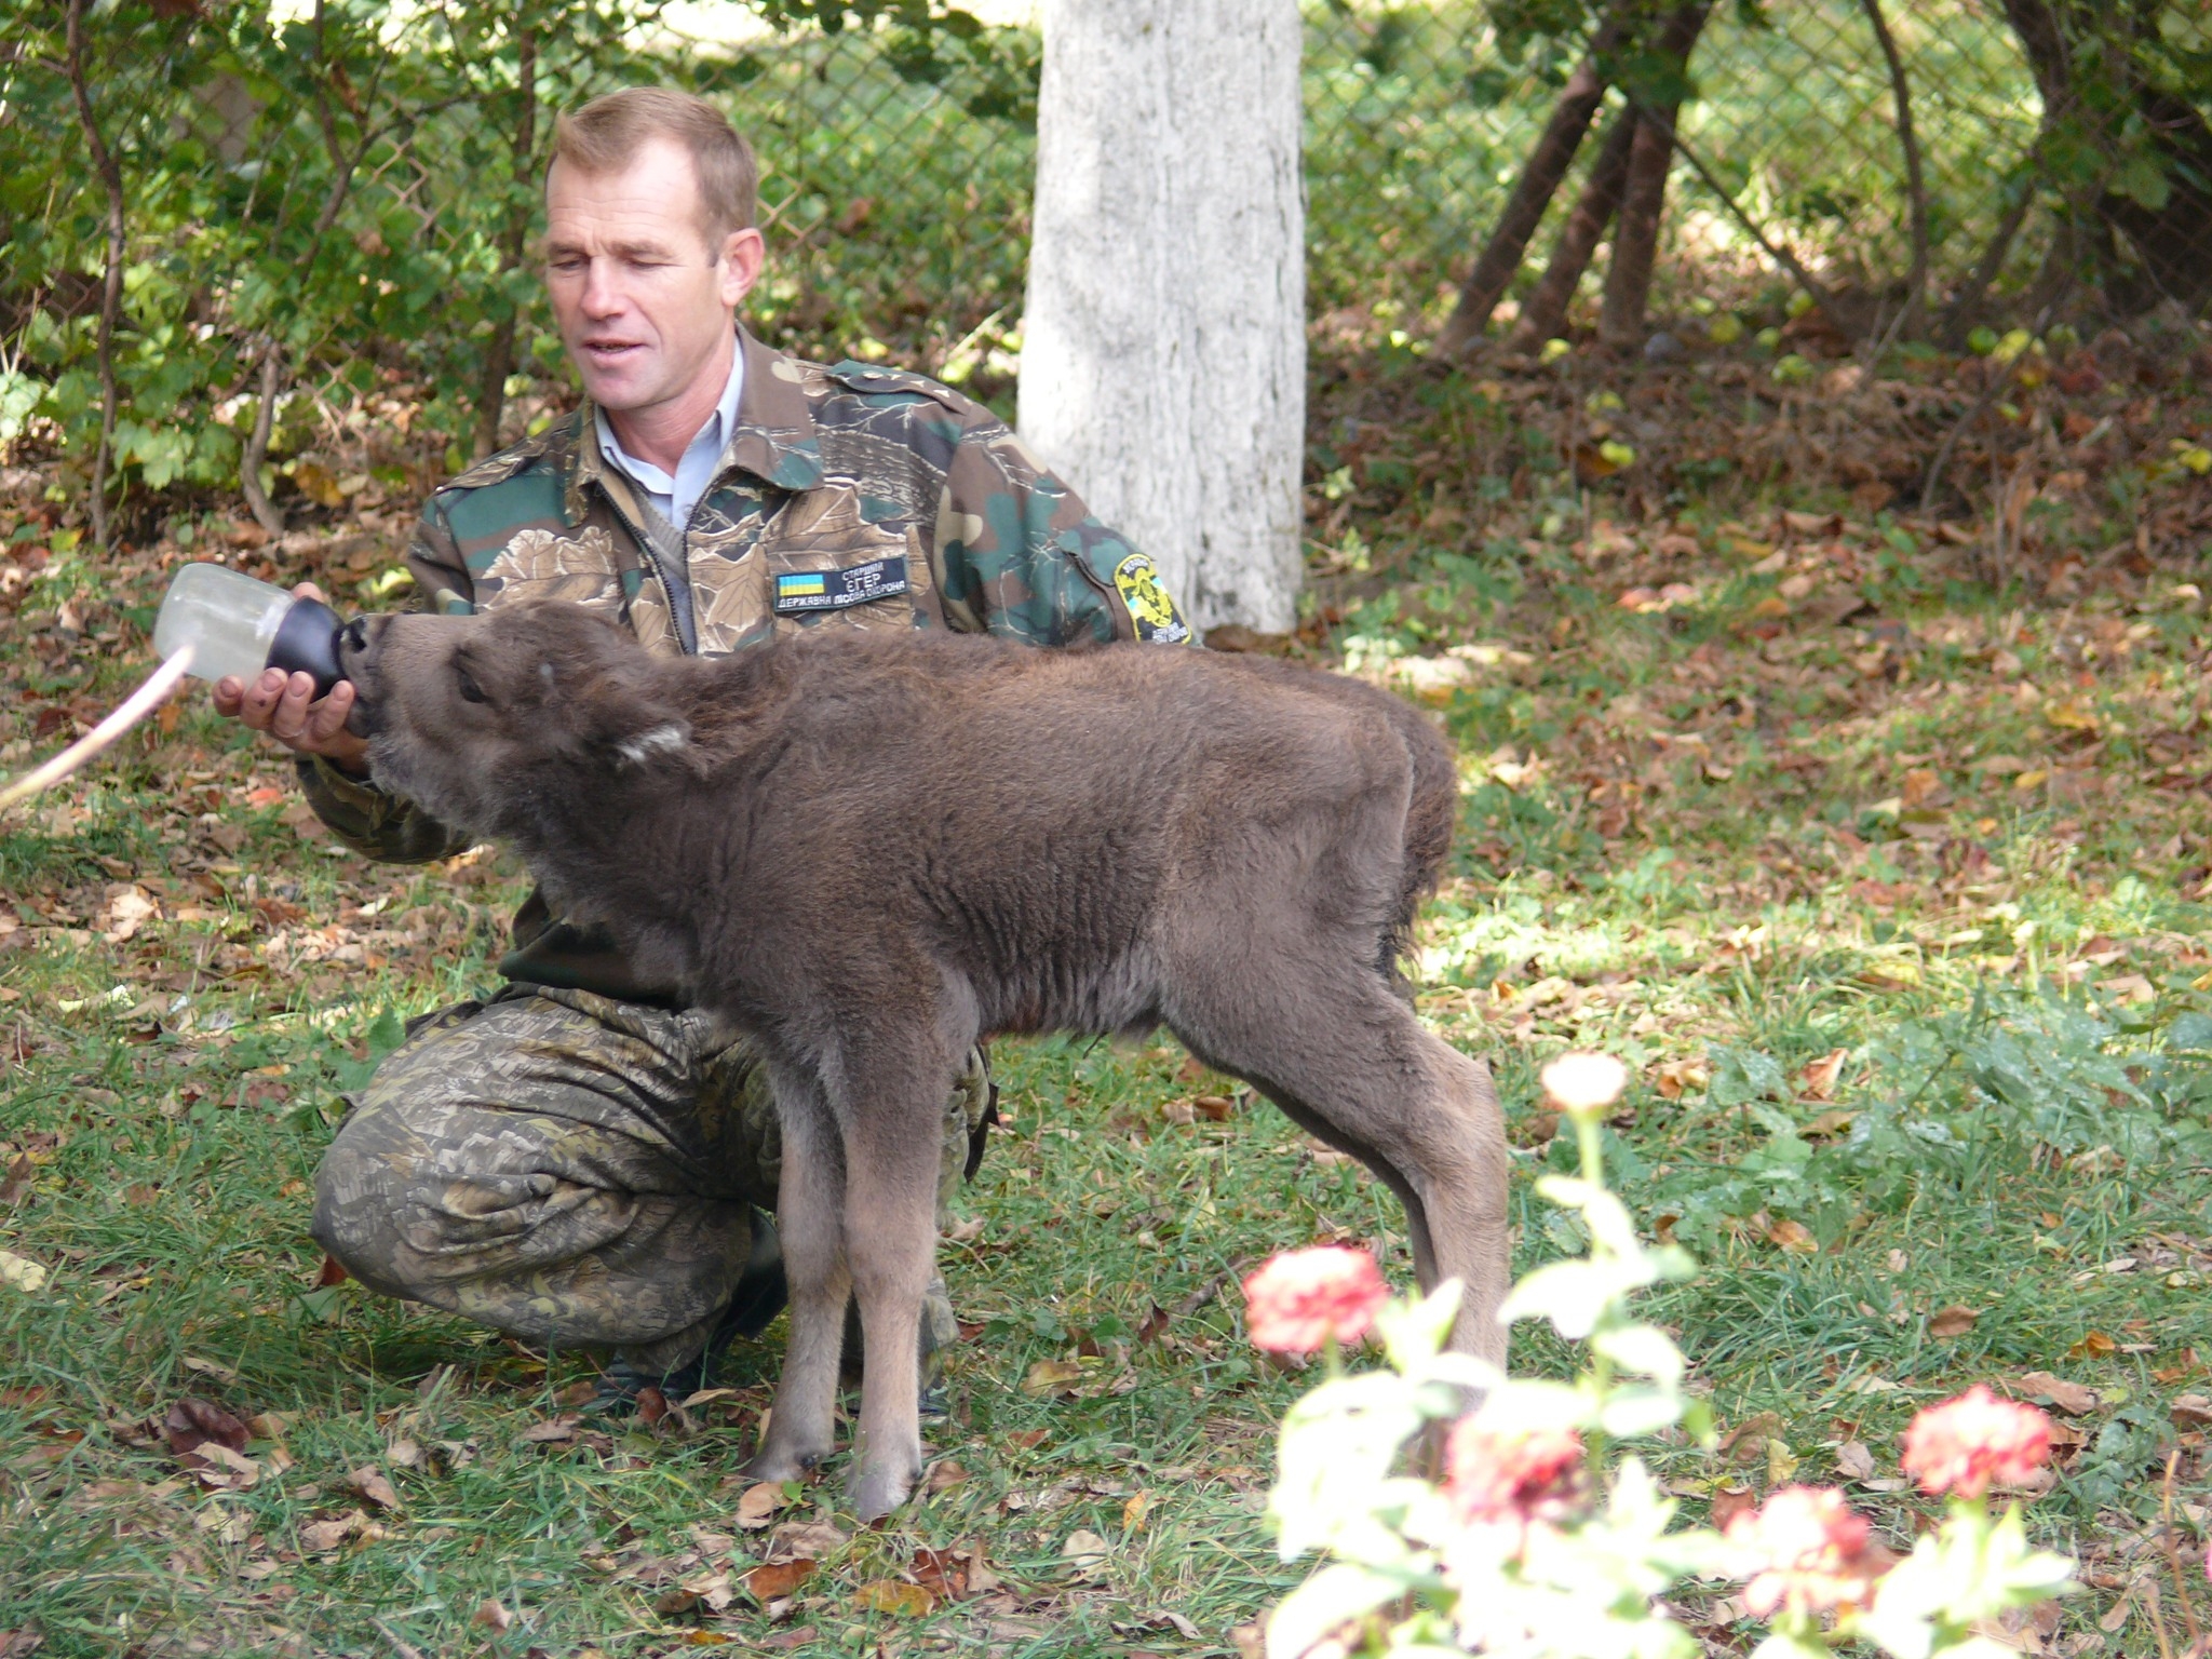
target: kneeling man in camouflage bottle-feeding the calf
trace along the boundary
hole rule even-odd
[[[703,100],[633,88],[560,119],[546,290],[584,405],[431,495],[418,602],[573,599],[648,650],[717,655],[807,628],[956,628],[1040,646],[1183,641],[1150,560],[1088,515],[987,409],[916,374],[821,367],[737,325],[759,279],[754,161]],[[349,845],[458,852],[383,792],[345,730],[276,670],[217,710],[296,750]],[[646,982],[602,931],[515,916],[509,984],[420,1022],[378,1066],[316,1179],[314,1234],[372,1290],[540,1345],[613,1347],[608,1398],[692,1387],[783,1303],[781,1146],[745,1044]],[[978,1053],[945,1117],[942,1188],[991,1113]],[[933,1287],[929,1352],[951,1340]]]

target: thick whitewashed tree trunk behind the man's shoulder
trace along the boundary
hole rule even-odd
[[[1199,628],[1301,573],[1296,0],[1046,0],[1022,438]]]

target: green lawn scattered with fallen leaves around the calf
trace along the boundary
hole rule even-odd
[[[1907,1544],[1911,1411],[2053,1371],[2099,1391],[2031,1506],[2088,1564],[2055,1639],[2154,1650],[2124,1597],[2161,1571],[2168,1455],[2179,1502],[2205,1498],[2201,1418],[2172,1402],[2208,1391],[2212,1356],[2201,602],[2170,571],[1997,602],[1940,544],[1880,564],[1902,531],[1876,524],[1745,564],[1694,511],[1688,546],[1661,551],[1655,520],[1588,560],[1568,551],[1588,500],[1551,529],[1542,502],[1511,509],[1537,553],[1447,555],[1418,531],[1438,500],[1354,500],[1374,571],[1316,602],[1378,675],[1498,646],[1422,681],[1464,810],[1420,949],[1422,1011],[1509,1104],[1517,1265],[1577,1243],[1528,1190],[1564,1157],[1533,1068],[1610,1048],[1639,1077],[1608,1130],[1621,1190],[1703,1263],[1657,1314],[1725,1438],[1661,1447],[1670,1489],[1694,1513],[1838,1480],[1865,1447],[1851,1498]],[[133,608],[173,553],[33,575],[46,538],[24,531],[0,564],[11,772],[142,672]],[[1832,540],[1860,549],[1856,588]],[[1615,604],[1677,577],[1697,588],[1677,608]],[[1874,611],[1823,619],[1843,591]],[[1301,1378],[1241,1340],[1225,1274],[1356,1239],[1402,1283],[1402,1217],[1265,1106],[1164,1113],[1219,1088],[1166,1042],[1000,1046],[1011,1126],[964,1197],[973,1237],[945,1245],[971,1334],[929,1433],[964,1478],[880,1531],[838,1517],[838,1467],[794,1493],[779,1526],[845,1540],[774,1626],[732,1575],[774,1537],[734,1515],[781,1329],[688,1425],[531,1440],[591,1356],[319,1287],[307,1181],[338,1091],[398,1018],[487,984],[520,878],[332,856],[292,801],[195,703],[0,825],[0,1250],[49,1274],[0,1283],[0,1632],[49,1655],[1203,1655],[1301,1577],[1259,1515]],[[1832,1084],[1807,1075],[1838,1051]],[[184,1396],[250,1420],[250,1489],[168,1453]],[[396,1511],[365,1506],[361,1469]],[[1077,1533],[1104,1540],[1082,1573]],[[920,1551],[980,1553],[998,1584],[896,1610]],[[509,1628],[478,1621],[487,1601]],[[1728,1608],[1690,1606],[1728,1650]]]

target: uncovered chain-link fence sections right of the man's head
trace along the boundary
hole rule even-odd
[[[1889,11],[1940,303],[2033,184],[2039,102],[1989,0]],[[1312,312],[1433,327],[1577,58],[1573,42],[1506,58],[1482,0],[1310,4]],[[1721,7],[1690,77],[1657,312],[1778,281],[1759,237],[1838,290],[1893,296],[1913,263],[1911,192],[1896,88],[1863,0]],[[1031,111],[978,113],[973,69],[920,77],[889,31],[763,31],[699,80],[761,148],[776,254],[761,296],[768,330],[805,349],[896,352],[984,394],[1011,383]],[[1531,243],[1524,281],[1593,166],[1604,119]],[[2033,276],[2039,248],[2033,234],[2006,239],[2000,292]]]

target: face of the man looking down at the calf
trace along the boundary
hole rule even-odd
[[[761,232],[719,248],[701,230],[690,153],[648,139],[613,173],[546,177],[546,290],[593,403],[644,411],[681,398],[730,338],[761,274]]]

